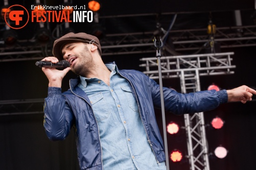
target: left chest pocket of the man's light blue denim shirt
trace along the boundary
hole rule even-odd
[[[110,109],[101,92],[89,96],[89,99],[98,123],[109,117]]]

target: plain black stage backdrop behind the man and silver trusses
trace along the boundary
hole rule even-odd
[[[250,87],[256,85],[255,81],[255,47],[241,47],[224,49],[222,52],[234,52],[232,64],[236,65],[234,75],[201,77],[201,89],[207,89],[211,83],[221,88],[231,89],[243,84]],[[143,71],[138,65],[143,57],[154,57],[155,54],[126,55],[102,57],[104,62],[116,61],[119,69],[137,69]],[[46,98],[48,80],[35,61],[0,62],[1,88],[0,100],[39,99]],[[62,90],[68,89],[68,79],[76,75],[69,72],[63,80]],[[180,91],[179,79],[165,79],[166,87]],[[255,99],[255,98],[254,98]],[[210,123],[216,115],[224,119],[223,129],[214,131],[206,127],[209,152],[223,145],[228,150],[227,157],[217,159],[210,156],[210,169],[213,170],[241,170],[256,169],[256,108],[255,101],[247,104],[228,103],[218,109],[205,112],[205,123]],[[41,108],[43,107],[41,106]],[[161,111],[156,110],[156,117],[160,131]],[[50,141],[43,127],[44,115],[0,115],[0,169],[3,170],[49,170],[49,169],[79,169],[74,131],[66,140]],[[176,121],[184,126],[183,116],[176,116],[166,112],[166,124]],[[167,135],[169,152],[179,149],[186,152],[185,132],[179,135]],[[181,163],[170,162],[170,169],[188,170],[189,163],[186,158]]]

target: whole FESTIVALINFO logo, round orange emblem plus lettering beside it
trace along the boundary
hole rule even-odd
[[[79,11],[78,11],[79,10]],[[30,10],[29,10],[30,11]],[[21,29],[31,22],[92,22],[93,12],[83,6],[31,5],[31,12],[22,5],[13,5],[5,12],[5,22],[12,29]],[[12,26],[8,20],[14,21]]]

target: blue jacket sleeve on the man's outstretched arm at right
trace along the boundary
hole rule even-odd
[[[161,108],[160,86],[148,78],[152,87],[152,99],[155,107]],[[226,90],[198,91],[182,94],[173,89],[163,87],[164,108],[174,114],[197,113],[217,108],[227,102]]]

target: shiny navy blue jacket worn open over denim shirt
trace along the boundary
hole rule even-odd
[[[161,108],[159,85],[142,72],[119,71],[130,83],[148,141],[157,161],[162,162],[165,160],[163,141],[154,112],[154,107]],[[79,79],[70,80],[70,89],[62,94],[61,88],[49,87],[44,106],[44,127],[49,139],[56,141],[65,139],[74,126],[80,169],[103,169],[96,118],[88,96],[77,87],[78,83]],[[163,95],[165,110],[178,115],[215,109],[227,102],[226,90],[181,94],[163,88]]]

